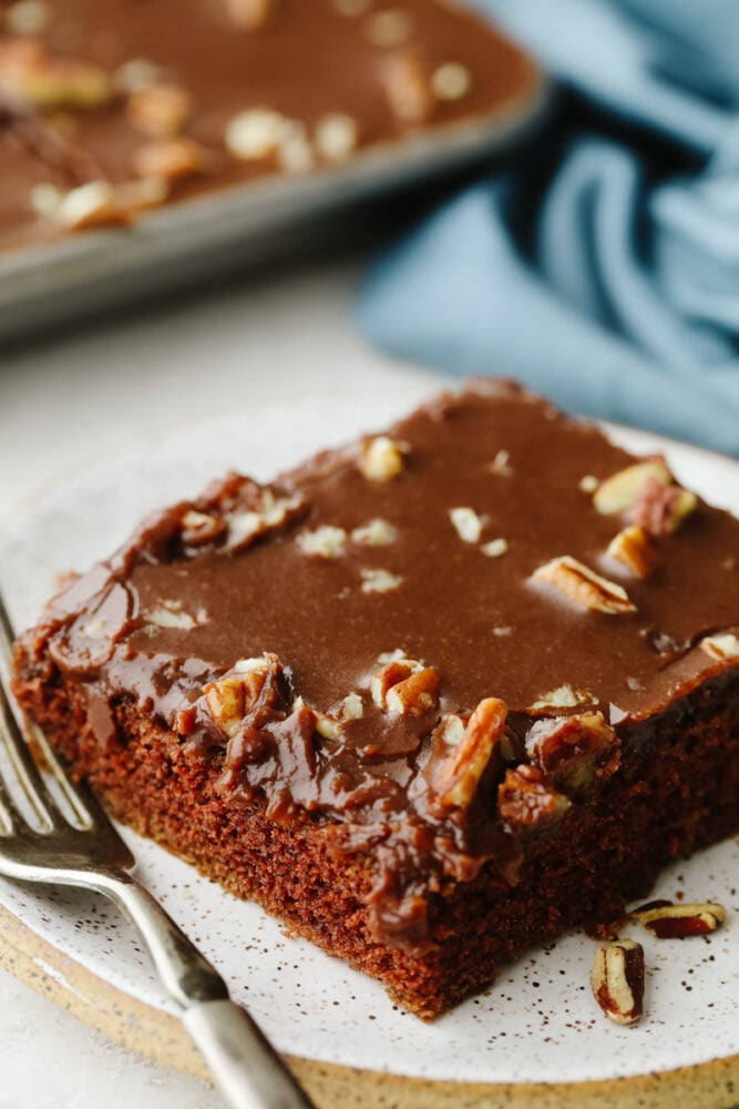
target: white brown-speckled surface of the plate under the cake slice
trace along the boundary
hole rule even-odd
[[[428,379],[391,398],[348,388],[193,424],[130,458],[70,475],[0,532],[0,582],[17,624],[31,622],[54,574],[110,553],[141,515],[238,468],[268,478],[320,446],[382,427],[429,394]],[[739,512],[739,464],[614,429],[637,450],[666,450],[678,477]],[[376,983],[291,939],[189,867],[130,833],[140,874],[219,967],[284,1051],[320,1062],[418,1078],[492,1083],[607,1081],[739,1055],[739,844],[725,843],[665,874],[657,895],[719,901],[726,926],[684,942],[639,935],[648,971],[646,1017],[619,1028],[589,990],[594,944],[572,934],[504,973],[485,996],[429,1026]],[[55,949],[147,1006],[164,999],[129,926],[100,898],[0,883],[0,905]],[[545,1102],[542,1102],[545,1103]],[[551,1103],[551,1102],[546,1102]],[[677,1103],[677,1102],[676,1102]]]

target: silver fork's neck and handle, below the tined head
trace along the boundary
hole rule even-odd
[[[252,1017],[229,999],[215,967],[146,887],[125,871],[88,877],[138,930],[160,980],[183,1009],[183,1024],[232,1109],[315,1109]]]

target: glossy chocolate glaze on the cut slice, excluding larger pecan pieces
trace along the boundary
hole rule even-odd
[[[739,521],[698,501],[653,537],[655,569],[638,577],[606,553],[625,521],[596,511],[592,488],[632,456],[507,383],[444,395],[389,438],[396,476],[366,476],[372,439],[318,456],[270,487],[286,519],[240,547],[224,520],[259,502],[254,484],[232,478],[161,513],[60,594],[23,643],[80,683],[101,743],[115,734],[109,704],[132,700],[183,744],[214,751],[225,793],[261,794],[277,818],[312,813],[342,849],[371,847],[378,932],[418,944],[424,897],[443,878],[492,858],[515,881],[520,833],[536,820],[516,828],[503,807],[506,766],[505,788],[523,765],[537,796],[578,803],[617,770],[622,740],[640,752],[694,689],[733,681],[736,695],[739,657],[699,644],[739,627]],[[453,525],[456,508],[482,521],[474,541]],[[186,531],[193,511],[212,521],[212,538]],[[357,533],[373,520],[389,526],[383,545]],[[305,537],[325,527],[345,537],[333,557],[308,553]],[[485,554],[497,539],[505,549]],[[585,609],[533,577],[561,556],[620,584],[635,611]],[[393,588],[366,591],[368,571],[387,571]],[[164,624],[178,625],[162,625],[163,609]],[[438,704],[400,714],[374,703],[372,675],[392,652],[437,672]],[[259,704],[229,731],[207,690],[238,660],[265,655]],[[361,699],[360,719],[343,716],[348,694]],[[507,706],[505,743],[464,801],[440,800],[451,751],[441,726],[487,698]],[[547,761],[531,746],[542,720],[583,713],[602,720],[609,744],[585,787],[557,777],[562,752],[575,749],[550,746]],[[337,734],[320,734],[325,716]]]

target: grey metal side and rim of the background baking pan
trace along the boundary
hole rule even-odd
[[[532,65],[525,93],[496,112],[359,152],[301,176],[270,175],[153,210],[124,228],[71,234],[0,254],[0,340],[284,257],[365,202],[504,153],[551,100]],[[335,237],[335,236],[333,236]]]

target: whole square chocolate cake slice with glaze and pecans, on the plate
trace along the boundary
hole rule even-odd
[[[16,691],[119,818],[431,1018],[739,828],[739,521],[478,383],[148,519]]]

